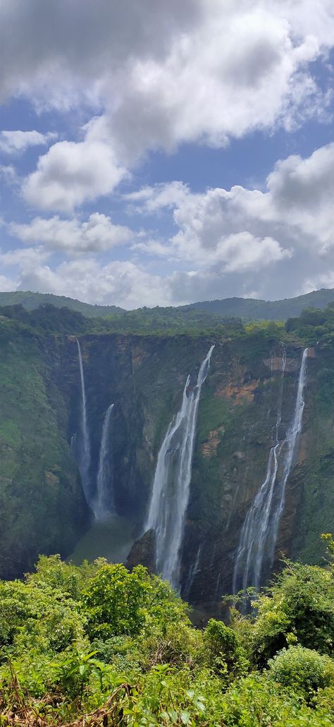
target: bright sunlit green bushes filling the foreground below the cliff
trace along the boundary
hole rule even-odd
[[[333,597],[330,562],[287,562],[251,615],[197,630],[142,566],[42,556],[0,583],[0,723],[330,727]]]

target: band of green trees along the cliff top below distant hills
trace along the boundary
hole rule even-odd
[[[214,336],[216,339],[252,340],[272,338],[293,341],[301,345],[334,344],[334,302],[319,310],[306,308],[300,316],[282,321],[242,321],[241,318],[221,318],[213,313],[189,308],[140,308],[117,312],[105,318],[85,318],[77,310],[41,305],[26,310],[23,305],[0,308],[0,338],[15,331],[33,335],[71,334],[139,334],[176,336]]]

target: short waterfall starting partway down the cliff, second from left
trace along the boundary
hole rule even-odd
[[[99,467],[97,470],[97,495],[93,510],[97,520],[103,520],[113,509],[113,497],[110,491],[110,465],[109,465],[109,433],[110,420],[114,405],[110,404],[105,413],[102,426],[101,446],[99,449]]]

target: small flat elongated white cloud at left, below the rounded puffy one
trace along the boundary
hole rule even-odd
[[[28,243],[42,243],[52,250],[64,250],[68,254],[101,252],[134,238],[131,230],[124,225],[113,225],[110,217],[99,212],[89,215],[86,222],[61,220],[50,217],[48,220],[35,217],[28,224],[9,225],[9,232]]]

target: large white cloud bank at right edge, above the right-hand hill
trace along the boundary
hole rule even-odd
[[[144,213],[174,200],[179,231],[169,246],[160,246],[166,256],[197,265],[220,261],[226,270],[237,270],[291,257],[296,248],[325,254],[334,246],[334,144],[306,159],[293,155],[278,161],[264,191],[234,186],[192,194],[177,182],[165,190],[146,187],[133,198]],[[142,249],[150,252],[150,244]]]

